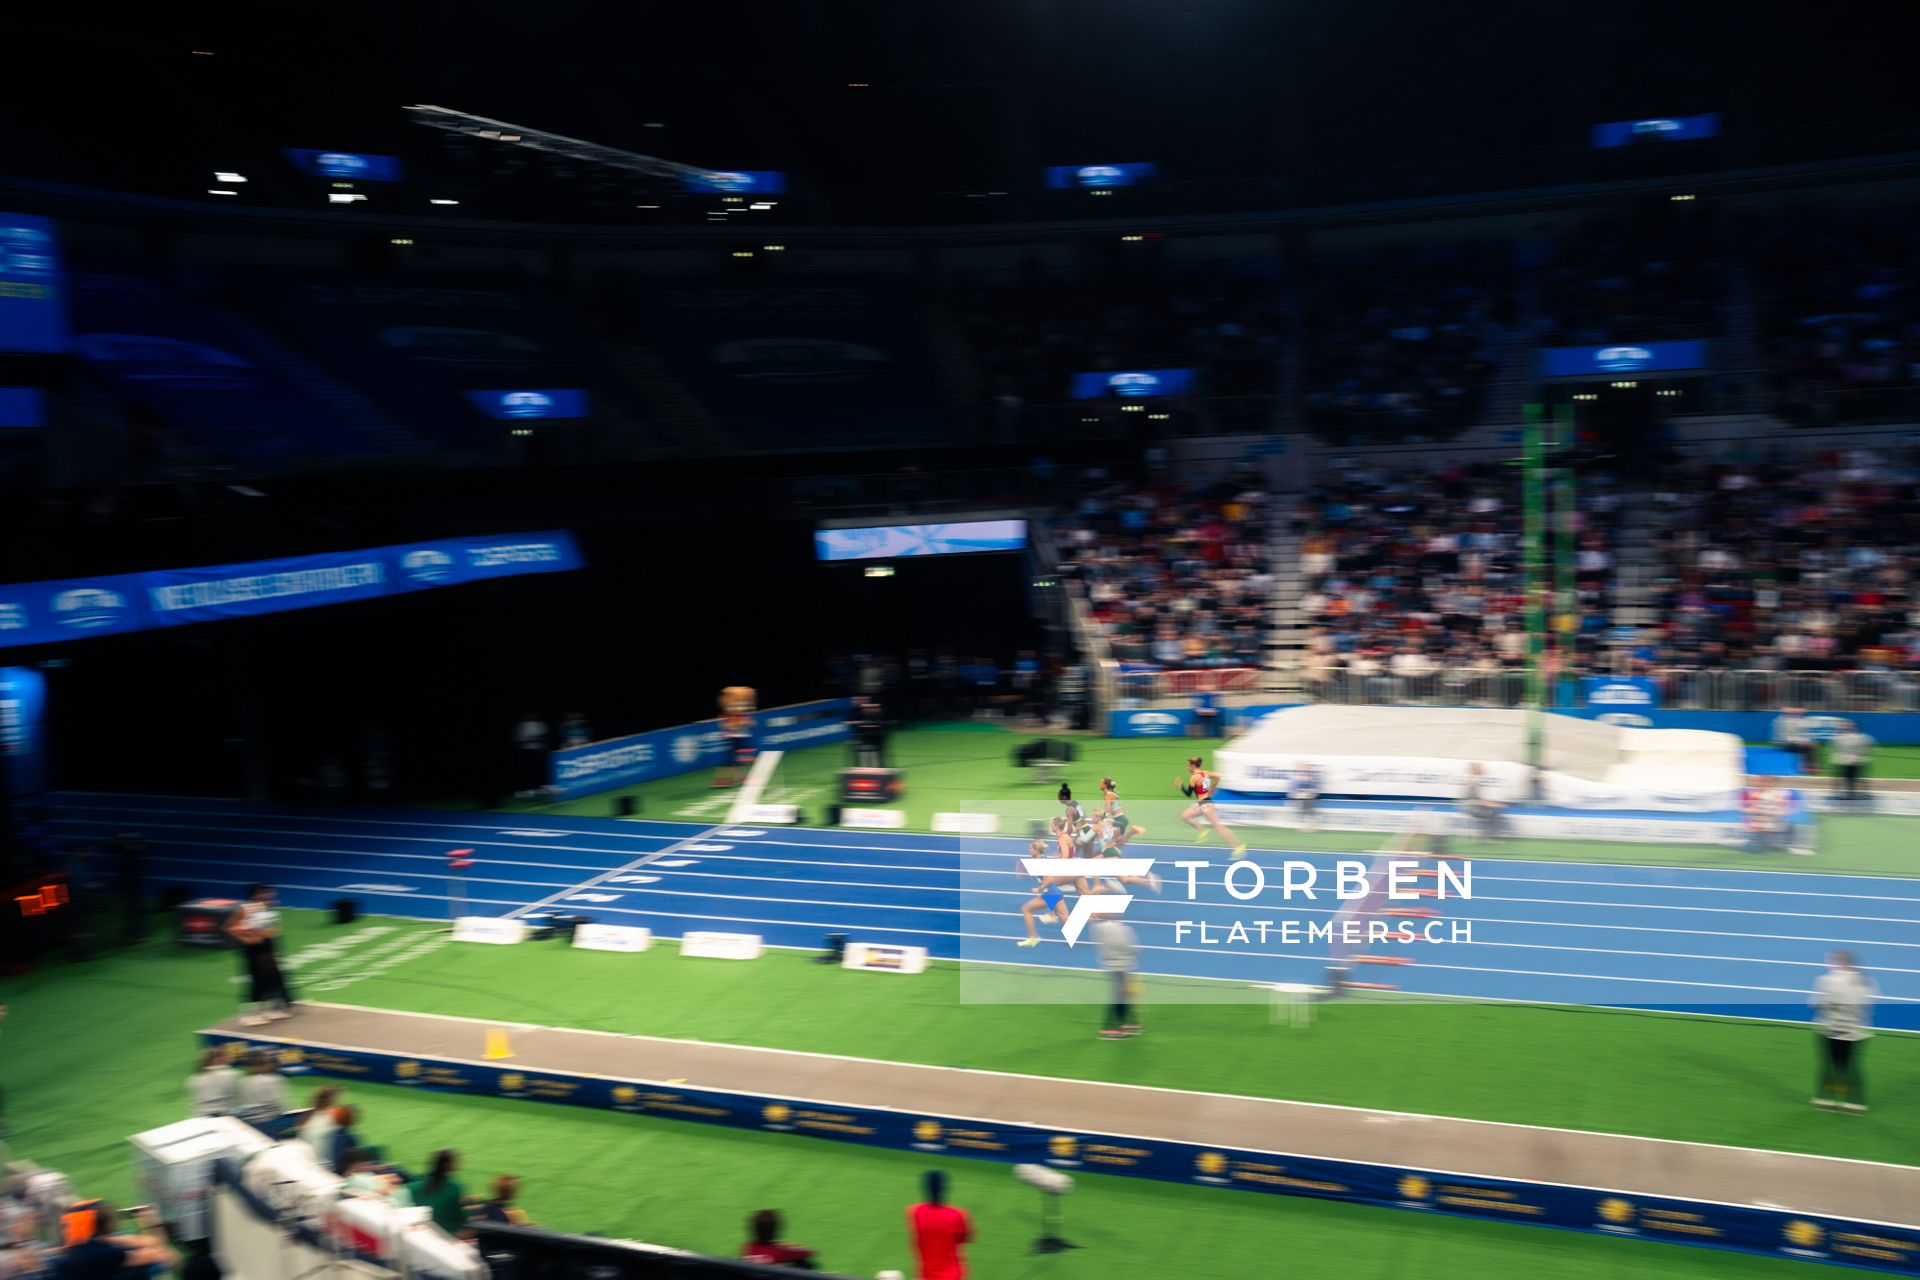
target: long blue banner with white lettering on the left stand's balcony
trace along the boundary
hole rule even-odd
[[[0,585],[0,647],[278,614],[584,566],[574,535],[549,530],[77,581],[27,581]]]

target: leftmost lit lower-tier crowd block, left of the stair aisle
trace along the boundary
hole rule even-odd
[[[1064,576],[1121,662],[1258,668],[1273,591],[1267,495],[1108,486],[1056,528]]]

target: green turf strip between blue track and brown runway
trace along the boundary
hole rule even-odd
[[[745,963],[682,960],[670,942],[641,956],[557,940],[492,948],[447,942],[419,921],[288,919],[284,954],[311,1000],[1920,1163],[1920,1036],[1874,1038],[1866,1063],[1878,1105],[1855,1117],[1807,1103],[1814,1044],[1799,1025],[1356,1000],[1319,1006],[1311,1029],[1290,1029],[1258,1004],[1152,1004],[1188,992],[1150,984],[1148,1032],[1112,1042],[1094,1034],[1094,1004],[962,1004],[952,963],[897,977],[818,965],[803,952]],[[171,1009],[177,1038],[127,1042],[165,1052],[179,1092],[186,1032],[232,1011],[232,971],[230,954],[157,940],[48,971],[25,983],[8,1023],[12,1065],[0,1084],[15,1092],[29,1044],[75,1069],[88,1052],[119,1055],[119,1009],[136,1004],[142,1017]],[[75,998],[96,983],[102,1009],[113,1009],[98,1038],[75,1046],[33,1029],[46,986]],[[1087,996],[1102,998],[1096,977]]]

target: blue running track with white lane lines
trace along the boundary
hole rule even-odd
[[[564,910],[662,936],[720,929],[818,948],[845,933],[948,960],[1092,965],[1092,948],[1066,948],[1058,929],[1035,950],[1016,948],[1031,881],[1014,867],[1025,841],[1010,837],[108,794],[63,794],[56,819],[63,841],[144,833],[150,881],[200,894],[271,881],[296,908],[349,896],[374,913],[445,919],[445,854],[472,848],[474,915]],[[1323,979],[1325,944],[1288,946],[1277,933],[1202,944],[1196,925],[1219,938],[1233,919],[1250,929],[1261,917],[1331,919],[1331,896],[1271,900],[1283,860],[1331,877],[1331,856],[1256,852],[1273,885],[1263,902],[1227,898],[1219,846],[1135,841],[1127,856],[1156,858],[1167,877],[1162,896],[1135,890],[1127,912],[1142,969],[1240,984]],[[1171,867],[1181,858],[1213,860],[1198,900]],[[1822,956],[1845,946],[1882,988],[1876,1021],[1920,1031],[1920,879],[1482,858],[1471,900],[1425,906],[1440,908],[1448,929],[1471,923],[1473,938],[1400,948],[1413,963],[1359,977],[1436,996],[1805,1019]]]

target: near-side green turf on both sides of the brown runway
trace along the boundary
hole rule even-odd
[[[1734,1126],[1747,1144],[1876,1157],[1920,1150],[1914,1128],[1893,1119],[1910,1105],[1870,1117],[1805,1107],[1797,1077],[1811,1065],[1811,1048],[1803,1029],[1553,1009],[1354,1006],[1332,1009],[1309,1032],[1294,1032],[1267,1027],[1260,1009],[1183,1007],[1156,1011],[1140,1040],[1102,1042],[1091,1036],[1092,1017],[1083,1009],[956,1007],[950,967],[902,981],[810,965],[795,954],[728,963],[682,960],[672,948],[609,956],[559,944],[434,946],[436,936],[419,923],[330,925],[319,913],[290,912],[284,954],[301,961],[296,983],[340,983],[319,994],[357,1004],[1256,1094],[1340,1094],[1342,1077],[1357,1077],[1369,1080],[1359,1092],[1377,1105],[1398,1100],[1409,1109],[1436,1109],[1452,1098],[1467,1103],[1463,1115],[1476,1107],[1511,1111],[1501,1119],[1528,1119],[1534,1111],[1584,1115],[1596,1128],[1634,1128],[1636,1113],[1680,1123],[1692,1111],[1701,1128]],[[315,950],[323,944],[338,946]],[[230,954],[152,940],[0,979],[0,1002],[12,1006],[0,1040],[0,1084],[13,1155],[65,1171],[84,1194],[125,1203],[134,1194],[125,1140],[186,1113],[192,1032],[232,1011],[232,971]],[[1413,1021],[1400,1021],[1409,1015]],[[1452,1031],[1427,1023],[1440,1015],[1453,1019]],[[1501,1021],[1515,1015],[1536,1021]],[[1874,1082],[1889,1102],[1912,1098],[1920,1084],[1912,1048],[1893,1038],[1874,1042]],[[303,1096],[307,1088],[298,1084],[294,1092]],[[518,1173],[526,1180],[524,1205],[543,1224],[732,1253],[745,1215],[778,1207],[791,1240],[820,1247],[824,1265],[847,1274],[910,1274],[900,1209],[916,1197],[918,1174],[929,1167],[947,1169],[956,1203],[975,1215],[979,1276],[1104,1276],[1123,1267],[1150,1276],[1636,1280],[1774,1276],[1801,1267],[1098,1174],[1079,1178],[1068,1203],[1066,1234],[1085,1249],[1029,1257],[1035,1196],[996,1163],[551,1103],[371,1084],[349,1090],[363,1111],[363,1132],[396,1159],[422,1165],[438,1148],[459,1148],[470,1192],[484,1190],[492,1174]],[[1716,1094],[1732,1102],[1716,1102]]]

